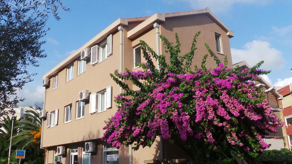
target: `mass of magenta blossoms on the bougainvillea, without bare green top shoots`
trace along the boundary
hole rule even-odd
[[[251,80],[263,70],[232,71],[222,63],[192,74],[168,73],[164,81],[139,91],[131,98],[116,96],[117,113],[106,122],[102,140],[119,148],[122,144],[149,146],[157,136],[197,139],[216,145],[225,142],[244,152],[268,148],[266,132],[277,132],[270,122],[283,126],[269,103]],[[143,81],[151,71],[119,74]],[[225,138],[218,138],[218,132]],[[152,142],[153,143],[153,142]],[[257,146],[255,146],[257,145]]]

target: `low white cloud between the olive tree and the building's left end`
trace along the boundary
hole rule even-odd
[[[44,102],[44,87],[37,86],[32,89],[23,89],[18,91],[18,97],[25,98],[18,106],[34,106],[34,104],[41,105]],[[42,107],[42,106],[41,106]]]

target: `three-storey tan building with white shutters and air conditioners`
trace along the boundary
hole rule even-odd
[[[189,52],[193,36],[198,31],[201,34],[193,64],[201,65],[203,56],[208,53],[204,43],[208,43],[211,49],[217,50],[220,60],[227,56],[231,68],[229,39],[233,37],[233,32],[209,8],[205,8],[119,18],[46,73],[43,76],[43,86],[46,86],[43,109],[47,114],[44,116],[41,138],[41,148],[46,149],[45,163],[136,164],[145,160],[151,163],[165,158],[184,158],[180,151],[173,151],[176,149],[173,145],[162,144],[159,137],[151,148],[138,151],[133,151],[131,146],[122,146],[117,150],[100,138],[104,132],[104,121],[117,110],[113,97],[122,92],[109,74],[126,68],[139,70],[135,62],[145,62],[141,57],[139,40],[148,43],[158,55],[167,57],[159,34],[175,43],[175,33],[178,33],[181,54],[185,54]],[[81,60],[86,58],[89,50],[91,57]],[[154,64],[158,65],[155,60]],[[209,57],[206,65],[211,68],[216,63]],[[133,90],[138,89],[130,82],[125,83]],[[89,99],[84,101],[87,95],[90,95]],[[86,142],[95,144],[96,150],[86,152]]]

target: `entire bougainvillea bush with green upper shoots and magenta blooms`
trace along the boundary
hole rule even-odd
[[[256,163],[258,153],[269,147],[263,140],[266,132],[277,132],[269,122],[283,126],[255,86],[258,75],[270,71],[258,69],[263,62],[251,69],[227,68],[227,57],[223,64],[207,44],[217,65],[207,69],[205,55],[200,68],[191,68],[199,34],[185,55],[178,55],[177,35],[175,46],[160,36],[169,64],[140,41],[146,60],[137,63],[142,71],[111,74],[124,93],[115,97],[118,110],[106,121],[103,141],[117,148],[132,144],[137,150],[162,136],[183,148],[194,163],[232,163],[234,156]],[[131,90],[125,81],[140,89]]]

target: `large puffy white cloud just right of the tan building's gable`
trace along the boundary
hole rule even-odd
[[[246,61],[251,67],[264,60],[262,69],[281,69],[286,63],[282,52],[272,48],[267,41],[247,42],[243,49],[231,48],[232,62]]]

